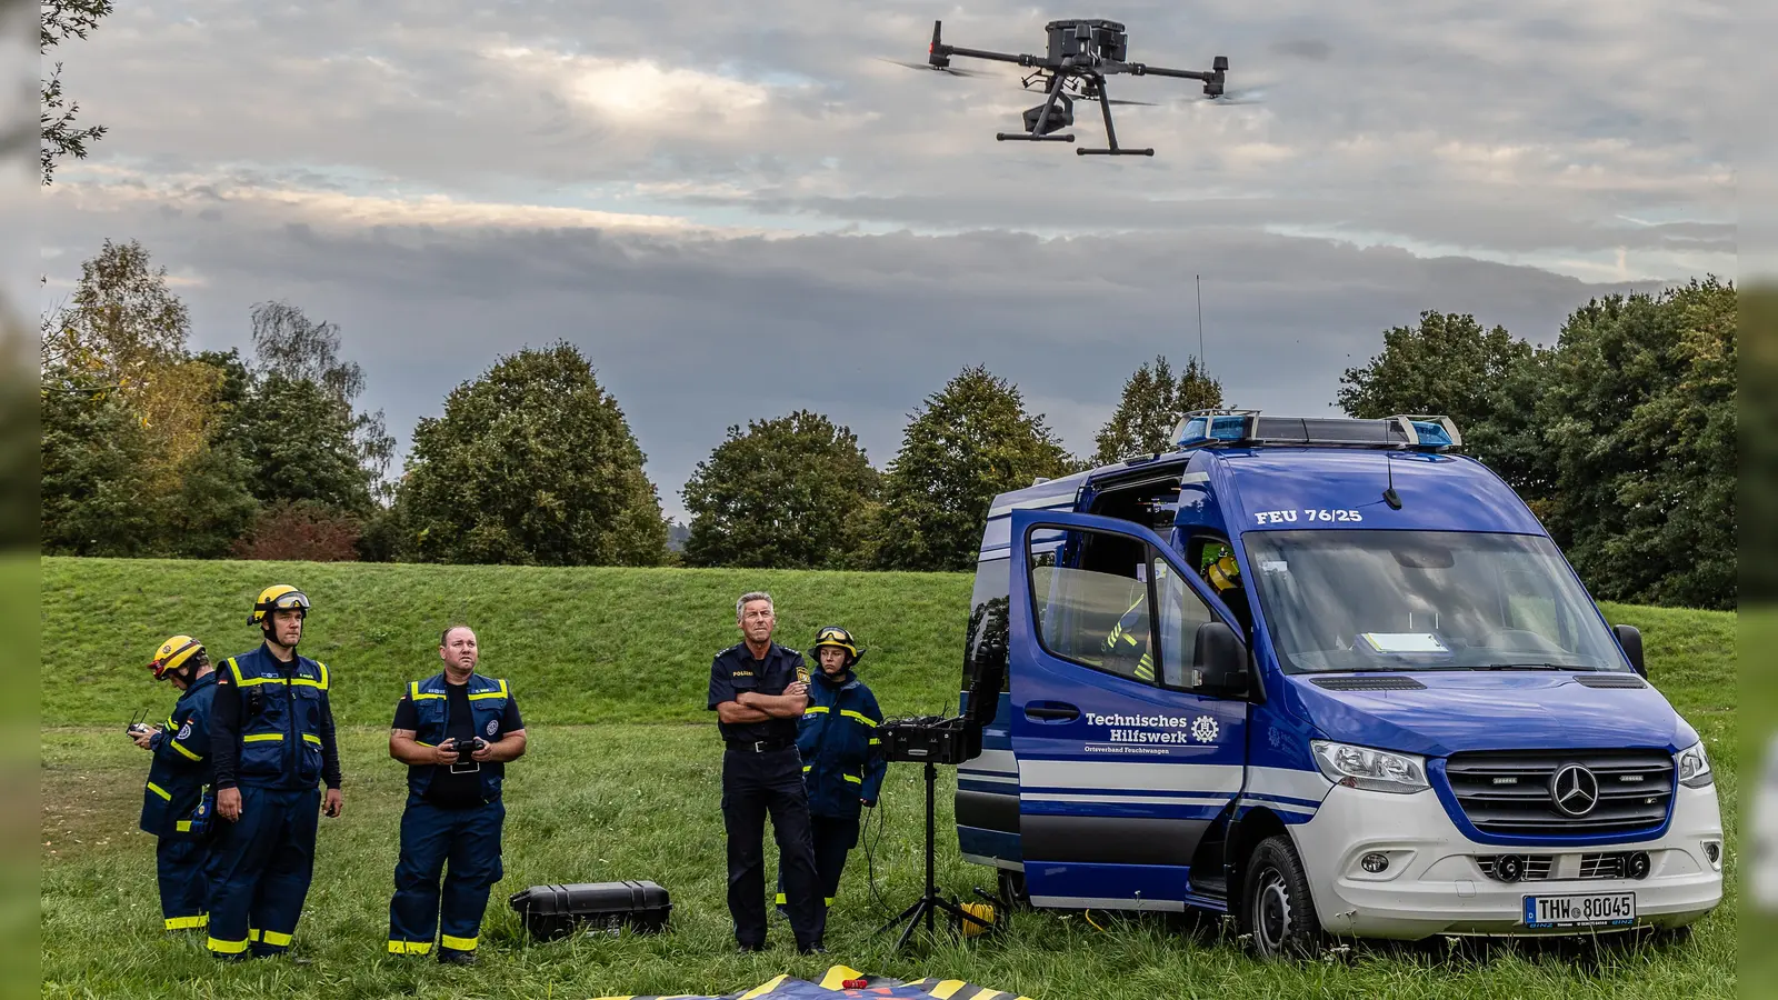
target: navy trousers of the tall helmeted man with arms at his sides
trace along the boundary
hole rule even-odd
[[[315,877],[320,788],[240,790],[240,819],[217,817],[210,845],[210,950],[276,956],[290,948]]]

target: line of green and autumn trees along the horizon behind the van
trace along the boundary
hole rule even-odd
[[[1447,413],[1602,598],[1734,607],[1734,288],[1593,301],[1554,347],[1424,313],[1341,379],[1353,416]],[[252,351],[192,352],[135,242],[85,262],[43,319],[41,552],[548,566],[955,571],[996,493],[1168,450],[1232,406],[1197,358],[1140,365],[1074,456],[1015,384],[967,367],[877,468],[827,415],[727,427],[661,514],[617,399],[557,342],[500,356],[421,418],[398,475],[338,326],[288,302]],[[670,544],[670,536],[677,543]]]

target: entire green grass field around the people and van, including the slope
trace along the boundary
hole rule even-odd
[[[322,820],[318,872],[297,952],[313,964],[217,968],[201,938],[158,929],[153,842],[135,815],[146,760],[121,733],[130,710],[171,701],[140,671],[153,646],[194,632],[249,648],[245,605],[290,580],[316,600],[313,655],[336,676],[347,813]],[[1686,996],[1735,991],[1734,895],[1684,945],[1572,950],[1364,945],[1321,963],[1264,966],[1216,922],[1019,913],[1010,934],[891,954],[873,931],[919,895],[921,788],[891,767],[875,886],[853,854],[827,961],[800,957],[775,922],[773,952],[736,956],[724,906],[720,747],[704,712],[709,655],[731,644],[747,587],[779,596],[788,637],[839,621],[871,646],[864,673],[889,714],[955,705],[960,575],[738,573],[43,560],[41,973],[44,996],[608,996],[727,993],[832,963],[914,979],[946,975],[1060,996],[1296,998]],[[1735,865],[1735,617],[1611,607],[1643,628],[1655,683],[1712,749]],[[478,625],[489,669],[519,692],[532,753],[507,785],[507,875],[484,925],[484,961],[444,972],[382,950],[404,769],[386,754],[404,678],[436,667],[444,617]],[[939,786],[939,875],[992,888],[955,856],[949,772]],[[875,829],[871,833],[875,840]],[[768,852],[770,858],[770,852]],[[770,877],[770,872],[768,872]],[[674,899],[656,938],[535,945],[505,899],[539,883],[654,879]],[[875,893],[873,893],[875,888]],[[873,899],[880,895],[880,902]]]

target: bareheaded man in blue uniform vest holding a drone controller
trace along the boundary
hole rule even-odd
[[[395,703],[389,756],[407,765],[407,810],[389,900],[389,954],[423,956],[437,932],[441,963],[475,963],[487,893],[505,874],[500,785],[507,762],[525,754],[525,722],[505,678],[475,673],[480,653],[468,625],[446,628],[439,637],[444,671],[409,683]]]

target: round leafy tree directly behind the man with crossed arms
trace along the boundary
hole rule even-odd
[[[857,564],[878,473],[857,436],[820,413],[749,422],[697,463],[686,566],[813,569]]]

